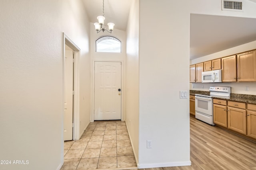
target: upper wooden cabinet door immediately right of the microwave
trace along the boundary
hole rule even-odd
[[[222,82],[236,82],[236,55],[224,57],[222,63]]]

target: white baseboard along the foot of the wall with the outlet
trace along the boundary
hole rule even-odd
[[[161,168],[161,167],[172,167],[172,166],[191,166],[191,161],[159,163],[159,164],[137,164],[137,166],[138,166],[138,169]]]

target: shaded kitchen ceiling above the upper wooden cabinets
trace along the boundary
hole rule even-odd
[[[190,59],[256,40],[256,19],[190,15]]]

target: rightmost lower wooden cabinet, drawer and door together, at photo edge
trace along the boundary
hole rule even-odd
[[[247,135],[256,139],[256,105],[247,104]]]

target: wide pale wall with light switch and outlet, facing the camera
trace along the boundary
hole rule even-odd
[[[179,97],[189,90],[189,4],[140,0],[139,9],[138,166],[190,165],[189,100]]]

